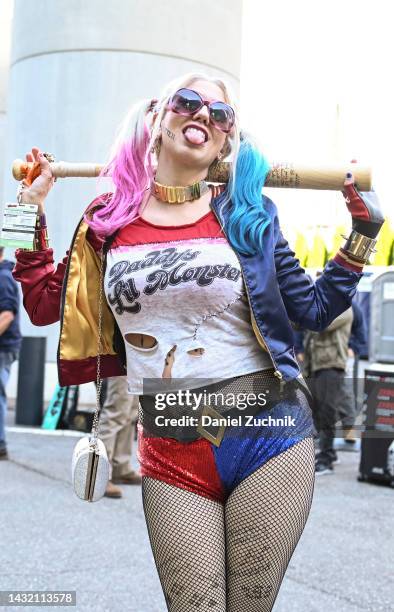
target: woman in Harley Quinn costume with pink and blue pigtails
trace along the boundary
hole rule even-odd
[[[204,180],[223,159],[228,183]],[[37,148],[27,160],[41,174],[22,201],[41,225],[14,276],[33,323],[60,312],[60,384],[79,384],[96,377],[104,258],[101,374],[127,373],[140,396],[143,507],[167,609],[271,610],[314,485],[292,328],[323,330],[350,306],[367,259],[355,238],[370,250],[380,211],[344,177],[352,233],[313,283],[262,196],[269,168],[240,137],[227,85],[199,74],[131,109],[105,169],[113,192],[89,205],[56,268],[43,208],[54,179]],[[168,409],[147,380],[177,390]]]

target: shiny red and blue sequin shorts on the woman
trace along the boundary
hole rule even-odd
[[[299,387],[241,424],[227,425],[219,446],[205,437],[181,442],[151,436],[139,422],[137,457],[142,476],[225,502],[247,476],[313,435],[307,393]]]

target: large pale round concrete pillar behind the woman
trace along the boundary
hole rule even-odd
[[[238,90],[241,0],[15,0],[5,193],[15,197],[12,160],[31,146],[58,160],[104,161],[116,128],[137,99],[156,96],[170,79],[204,71]],[[58,181],[47,201],[56,260],[95,197],[94,179]],[[58,325],[48,334],[56,358]]]

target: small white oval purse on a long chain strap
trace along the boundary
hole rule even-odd
[[[103,248],[100,251],[100,289],[98,311],[98,341],[97,341],[97,380],[96,380],[96,410],[94,413],[92,431],[89,436],[81,438],[76,444],[72,461],[71,476],[75,494],[85,501],[97,501],[105,493],[109,480],[110,465],[107,451],[99,439],[100,392],[100,356],[102,351],[102,316],[103,316]]]

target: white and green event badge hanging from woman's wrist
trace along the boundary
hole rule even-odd
[[[37,204],[7,202],[4,206],[0,246],[33,250]]]

